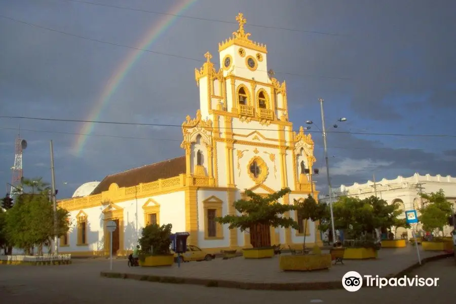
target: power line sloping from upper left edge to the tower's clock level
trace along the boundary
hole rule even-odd
[[[26,21],[22,21],[22,20],[11,18],[11,17],[4,16],[4,15],[0,15],[0,18],[4,18],[4,19],[8,19],[8,20],[11,20],[11,21],[14,21],[14,22],[22,23],[22,24],[25,24],[25,25],[28,25],[28,26],[32,26],[32,27],[36,27],[36,28],[40,28],[40,29],[44,29],[44,30],[60,33],[60,34],[63,34],[63,35],[77,37],[79,39],[85,39],[85,40],[89,40],[89,41],[93,41],[93,42],[97,42],[97,43],[102,43],[102,44],[107,44],[107,45],[111,45],[111,46],[116,46],[116,47],[120,47],[120,48],[132,49],[132,50],[147,52],[147,53],[151,53],[151,54],[169,56],[169,57],[180,58],[180,59],[187,59],[187,60],[198,61],[198,62],[203,62],[203,63],[206,62],[206,60],[195,59],[195,58],[191,58],[191,57],[175,55],[175,54],[170,54],[170,53],[164,53],[164,52],[151,51],[151,50],[136,48],[136,47],[132,47],[132,46],[122,45],[122,44],[118,44],[118,43],[108,42],[108,41],[104,41],[104,40],[93,39],[93,38],[90,38],[90,37],[87,37],[87,36],[83,36],[83,35],[79,35],[79,34],[73,34],[73,33],[68,33],[68,32],[65,32],[65,31],[58,30],[58,29],[54,29],[54,28],[50,28],[50,27],[46,27],[46,26],[42,26],[42,25],[38,25],[38,24],[26,22]],[[236,68],[247,69],[246,67],[242,67],[242,66],[237,66]],[[259,70],[259,69],[257,69],[257,71],[267,72],[267,71]],[[281,72],[281,71],[274,71],[274,72],[275,73],[284,74],[284,75],[299,76],[299,77],[315,77],[315,78],[321,78],[321,79],[351,80],[351,78],[346,78],[346,77],[332,77],[332,76],[325,76],[325,75],[288,73],[288,72]]]

